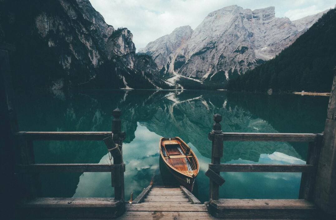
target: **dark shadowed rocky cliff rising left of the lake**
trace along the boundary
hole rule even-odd
[[[131,32],[108,25],[89,0],[4,0],[0,18],[0,40],[17,49],[11,57],[16,87],[164,86],[155,77],[158,69],[151,68],[150,74],[134,69],[141,65],[135,65]],[[148,76],[138,74],[142,71]]]

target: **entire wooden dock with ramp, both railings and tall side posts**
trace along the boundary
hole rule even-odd
[[[221,115],[214,115],[208,133],[212,141],[209,177],[209,202],[201,204],[183,186],[148,186],[128,204],[125,201],[121,131],[121,110],[112,112],[112,131],[32,132],[19,131],[14,91],[11,83],[10,45],[0,43],[0,96],[3,127],[1,166],[4,189],[11,196],[3,204],[3,219],[323,219],[336,218],[336,72],[329,99],[323,133],[230,133],[222,132]],[[113,164],[37,164],[35,141],[103,141]],[[303,165],[221,164],[226,141],[308,142],[307,162]],[[17,158],[18,156],[18,158]],[[39,198],[40,173],[111,172],[111,190],[115,198]],[[225,179],[220,172],[301,172],[299,199],[223,199],[219,187]],[[18,178],[19,177],[19,178]],[[15,212],[11,208],[15,207]],[[215,218],[216,217],[216,218]]]

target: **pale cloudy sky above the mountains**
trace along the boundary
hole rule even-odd
[[[90,0],[115,29],[127,27],[138,49],[176,27],[195,29],[208,13],[229,5],[249,9],[275,6],[276,17],[296,20],[334,8],[335,0]]]

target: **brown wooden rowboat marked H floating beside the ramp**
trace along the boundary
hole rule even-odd
[[[178,182],[193,191],[200,165],[195,153],[179,137],[161,137],[160,155]]]

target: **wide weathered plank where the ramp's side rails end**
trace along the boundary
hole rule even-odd
[[[127,211],[152,211],[152,212],[206,212],[207,207],[205,205],[198,204],[169,204],[169,206],[154,206],[141,204],[125,204]]]

